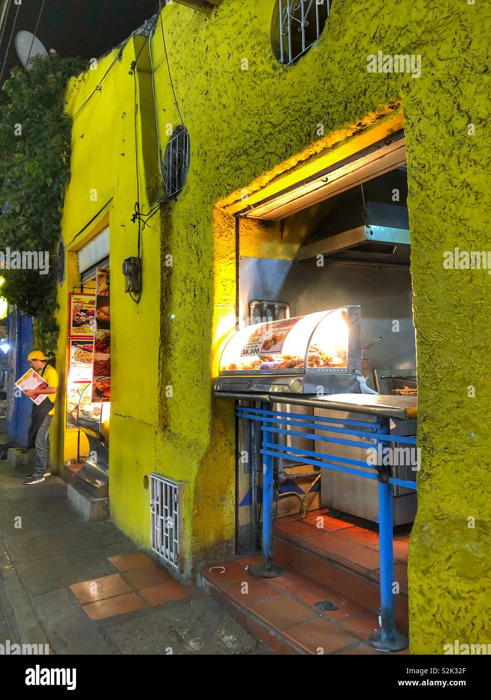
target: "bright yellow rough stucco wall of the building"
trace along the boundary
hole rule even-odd
[[[111,517],[149,543],[152,470],[186,482],[184,556],[193,563],[230,551],[235,531],[235,436],[231,402],[212,401],[218,348],[235,320],[233,202],[247,188],[273,187],[308,157],[375,128],[402,104],[408,149],[417,365],[420,375],[419,511],[410,542],[410,649],[441,654],[445,643],[491,641],[491,468],[487,328],[491,277],[443,269],[443,252],[489,248],[491,162],[485,96],[489,3],[476,0],[334,0],[317,45],[295,66],[272,55],[275,0],[223,0],[207,17],[176,3],[162,11],[174,89],[191,135],[184,191],[142,233],[144,292],[123,294],[120,264],[137,248],[132,39],[74,120],[65,243],[110,197]],[[165,148],[181,123],[170,89],[160,25],[151,41],[157,115]],[[378,50],[419,54],[420,78],[367,73]],[[85,102],[113,61],[72,81],[67,112]],[[148,52],[137,69],[141,208],[158,180]],[[475,136],[468,125],[475,125]],[[319,136],[319,125],[324,136]],[[124,154],[124,155],[123,155]],[[97,202],[90,190],[97,189]],[[237,197],[237,193],[239,193]],[[103,214],[106,214],[104,210]],[[101,214],[101,216],[103,216]],[[95,225],[97,221],[93,225]],[[251,227],[264,255],[284,255]],[[273,230],[273,234],[277,232]],[[291,251],[296,240],[291,232]],[[276,251],[276,252],[275,252]],[[166,253],[173,267],[162,265]],[[293,254],[293,253],[292,253]],[[60,288],[59,365],[64,363],[67,293]],[[66,331],[65,331],[66,332]],[[468,398],[468,386],[476,398]],[[165,386],[172,398],[165,398]],[[62,437],[60,421],[55,425]],[[73,447],[73,446],[72,446]],[[72,456],[69,449],[64,456]],[[57,455],[58,463],[62,454]],[[475,526],[469,527],[469,518]]]

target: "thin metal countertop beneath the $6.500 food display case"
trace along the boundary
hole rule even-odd
[[[417,417],[417,396],[389,396],[378,394],[328,394],[321,398],[308,398],[299,395],[268,394],[256,392],[234,393],[215,391],[216,398],[234,398],[268,403],[288,403],[312,408],[326,408],[348,413],[364,413],[371,416],[387,416],[399,420]]]

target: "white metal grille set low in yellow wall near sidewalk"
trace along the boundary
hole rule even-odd
[[[150,475],[151,547],[162,559],[181,570],[182,482]]]

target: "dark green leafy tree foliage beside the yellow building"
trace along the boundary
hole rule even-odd
[[[36,56],[15,68],[0,102],[0,250],[48,251],[48,274],[0,269],[2,296],[34,317],[43,349],[55,349],[57,242],[63,191],[70,178],[71,120],[64,112],[67,81],[86,69],[80,58]]]

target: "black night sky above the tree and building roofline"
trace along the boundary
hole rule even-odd
[[[41,4],[42,0],[22,0],[2,82],[13,66],[21,65],[15,51],[15,34],[21,29],[34,32]],[[0,65],[4,62],[17,8],[11,0],[0,45]],[[97,58],[129,36],[157,8],[158,0],[46,0],[37,36],[48,51],[54,48],[62,56]]]

